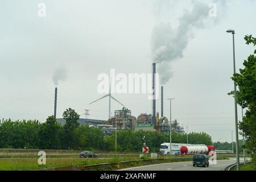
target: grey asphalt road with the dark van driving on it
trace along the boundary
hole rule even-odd
[[[240,162],[243,162],[243,159],[240,159]],[[193,167],[192,161],[189,161],[153,164],[150,166],[121,169],[119,171],[223,171],[225,167],[234,163],[236,163],[236,159],[230,158],[229,160],[217,160],[217,164],[209,165],[209,167]]]

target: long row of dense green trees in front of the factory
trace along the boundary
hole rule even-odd
[[[63,113],[66,121],[63,126],[53,116],[44,123],[2,119],[0,148],[66,150],[65,153],[73,150],[115,151],[115,133],[106,137],[101,129],[80,126],[77,122],[79,117],[75,110],[69,108]],[[158,152],[160,144],[170,140],[170,136],[164,133],[122,130],[117,133],[117,152],[141,152],[143,136],[150,152]],[[212,144],[212,138],[206,133],[190,133],[188,138],[191,144]],[[173,132],[172,142],[187,143],[187,135]]]

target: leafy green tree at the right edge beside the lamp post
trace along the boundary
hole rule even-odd
[[[256,38],[252,35],[245,36],[246,44],[256,46]],[[254,51],[256,54],[256,49]],[[239,123],[239,129],[246,137],[246,148],[249,149],[249,154],[256,169],[256,57],[250,55],[243,62],[244,69],[240,69],[240,73],[233,75],[232,80],[238,86],[237,102],[243,109],[247,108],[245,117]],[[234,96],[234,91],[229,95]]]

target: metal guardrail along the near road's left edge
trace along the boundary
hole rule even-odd
[[[185,157],[185,158],[162,158],[162,159],[145,159],[145,160],[133,160],[133,161],[126,161],[126,162],[117,162],[117,163],[104,163],[104,164],[93,164],[90,166],[79,166],[81,171],[86,171],[89,169],[102,169],[108,168],[111,166],[115,166],[118,164],[130,164],[130,163],[146,163],[146,162],[156,162],[160,160],[183,160],[183,159],[193,159],[192,157]]]

